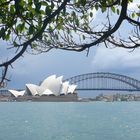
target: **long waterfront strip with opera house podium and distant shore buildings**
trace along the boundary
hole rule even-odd
[[[23,96],[15,98],[11,95],[0,95],[0,102],[123,102],[123,101],[140,101],[140,94],[99,94],[94,98],[81,98],[77,94],[69,94],[67,96]]]

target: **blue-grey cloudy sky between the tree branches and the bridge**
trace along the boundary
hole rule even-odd
[[[134,6],[132,5],[130,8],[134,8]],[[3,53],[5,52],[2,48],[4,46],[5,43],[2,42],[0,58],[5,57],[6,59],[7,56],[10,58],[10,53]],[[13,64],[13,67],[8,72],[11,82],[7,86],[12,89],[24,88],[26,83],[38,84],[52,74],[69,78],[84,73],[111,72],[140,80],[140,49],[130,52],[127,49],[109,49],[100,45],[90,49],[88,57],[86,57],[86,52],[62,50],[52,50],[40,55],[26,53]]]

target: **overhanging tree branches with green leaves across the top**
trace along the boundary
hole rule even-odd
[[[140,4],[135,0],[0,0],[0,39],[17,49],[15,56],[0,64],[0,86],[8,80],[8,67],[26,50],[88,53],[101,43],[137,48],[139,18]],[[123,24],[129,27],[128,33],[121,31]]]

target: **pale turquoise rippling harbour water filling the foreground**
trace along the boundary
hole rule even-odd
[[[0,140],[139,140],[140,102],[1,102]]]

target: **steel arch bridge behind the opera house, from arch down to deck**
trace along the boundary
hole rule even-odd
[[[115,73],[87,73],[66,79],[77,84],[77,90],[140,91],[140,81]]]

